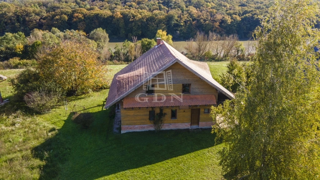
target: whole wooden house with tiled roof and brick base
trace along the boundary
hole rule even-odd
[[[166,113],[162,129],[205,128],[212,126],[210,107],[233,98],[207,63],[189,60],[157,38],[156,46],[114,75],[105,109],[116,104],[121,133],[153,130],[160,108]]]

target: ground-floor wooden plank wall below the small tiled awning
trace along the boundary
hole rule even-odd
[[[133,126],[133,125],[148,125],[152,124],[152,121],[149,121],[149,108],[126,108],[124,109],[122,105],[121,107],[121,125],[122,126]],[[165,124],[171,123],[190,123],[191,122],[191,109],[192,108],[200,108],[200,122],[211,122],[212,118],[210,114],[204,114],[204,108],[210,108],[211,106],[191,106],[189,109],[179,109],[179,106],[174,107],[163,107],[163,112],[167,113],[164,117]],[[177,119],[171,119],[171,110],[177,110]],[[160,112],[159,107],[153,108],[155,110],[155,114]]]

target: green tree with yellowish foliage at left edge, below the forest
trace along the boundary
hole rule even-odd
[[[0,60],[8,60],[12,57],[19,57],[26,43],[26,37],[22,32],[5,33],[0,37]]]

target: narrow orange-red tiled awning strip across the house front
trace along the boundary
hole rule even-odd
[[[134,97],[125,97],[123,99],[124,108],[138,108],[138,107],[162,107],[162,106],[193,106],[193,105],[213,105],[216,104],[216,98],[213,94],[206,95],[184,95],[182,96],[182,102],[175,97],[165,96],[164,102],[162,96],[156,98],[154,96],[147,96],[140,98],[141,102],[138,102]],[[147,99],[145,99],[147,98]],[[180,97],[181,98],[181,97]],[[148,101],[148,102],[144,102]]]

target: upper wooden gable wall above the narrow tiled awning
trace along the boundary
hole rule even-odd
[[[170,96],[170,93],[177,94],[178,96],[182,93],[182,84],[191,84],[191,93],[190,95],[198,95],[198,94],[213,94],[218,100],[218,92],[217,90],[209,85],[204,80],[200,79],[194,73],[183,67],[178,62],[172,64],[169,68],[164,71],[172,71],[172,89],[169,90],[155,90],[155,93],[162,93],[166,96]],[[159,85],[159,87],[163,88],[164,85]],[[128,94],[127,97],[135,97],[137,94],[146,93],[143,90],[143,86],[138,87],[132,93]],[[189,95],[189,94],[184,94]],[[142,97],[142,96],[141,96]]]

